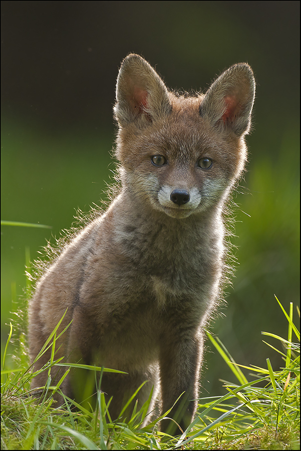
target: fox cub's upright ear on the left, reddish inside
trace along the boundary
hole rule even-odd
[[[168,91],[155,70],[139,55],[128,55],[121,65],[116,85],[116,118],[121,126],[131,122],[147,126],[169,114]]]

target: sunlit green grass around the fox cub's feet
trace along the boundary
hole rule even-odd
[[[288,322],[287,337],[267,332],[263,335],[276,340],[277,345],[266,344],[281,355],[283,366],[275,370],[267,359],[265,368],[244,367],[251,371],[247,379],[241,365],[208,332],[236,383],[223,381],[226,394],[222,397],[200,398],[196,419],[177,438],[158,431],[162,417],[141,427],[150,399],[140,411],[134,408],[126,421],[119,418],[113,422],[109,403],[100,390],[95,408],[88,399],[85,404],[77,404],[74,411],[73,401],[67,397],[65,408],[56,407],[52,395],[46,394],[60,390],[62,380],[52,386],[49,378],[41,402],[35,402],[29,396],[34,374],[28,365],[23,335],[16,346],[18,364],[7,362],[11,325],[2,358],[2,449],[299,449],[299,332],[292,321],[292,304],[286,313],[277,302]],[[41,352],[47,346],[54,349],[55,340],[56,330]],[[43,370],[50,374],[51,366],[56,364],[59,361],[53,352]],[[135,399],[137,391],[131,399]]]

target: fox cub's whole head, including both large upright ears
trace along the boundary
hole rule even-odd
[[[175,218],[215,207],[243,170],[254,94],[246,63],[223,72],[205,95],[186,97],[168,91],[143,58],[128,55],[114,108],[125,188]]]

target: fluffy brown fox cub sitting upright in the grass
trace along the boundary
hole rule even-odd
[[[224,205],[246,161],[254,91],[245,63],[193,97],[170,92],[138,55],[122,63],[114,108],[120,193],[40,279],[29,326],[33,362],[67,309],[58,334],[72,323],[55,358],[127,373],[103,373],[112,420],[144,381],[137,409],[154,387],[149,412],[172,408],[183,429],[195,414],[203,328],[225,272]],[[52,384],[65,371],[54,366]],[[76,374],[61,385],[71,397],[84,389]],[[32,388],[47,377],[41,372]],[[161,429],[175,433],[172,424],[163,420]]]

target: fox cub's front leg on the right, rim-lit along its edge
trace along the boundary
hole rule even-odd
[[[175,330],[160,349],[162,413],[178,402],[167,415],[183,429],[191,423],[197,408],[198,378],[202,360],[202,336],[194,330]],[[174,421],[163,420],[161,430],[180,433]]]

